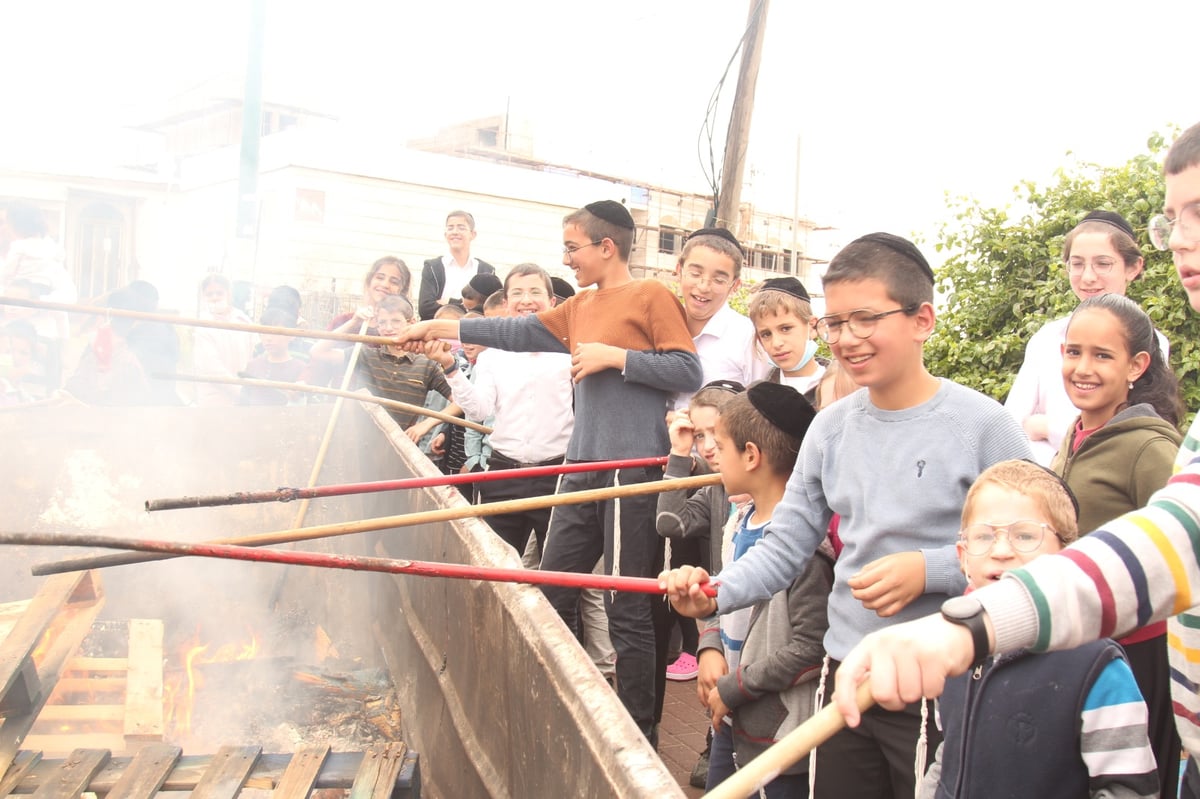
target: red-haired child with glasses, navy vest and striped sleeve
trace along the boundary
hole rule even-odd
[[[1027,461],[979,475],[958,543],[968,590],[1074,541],[1074,501],[1054,473]],[[989,657],[947,683],[938,710],[946,739],[920,799],[1158,795],[1146,704],[1111,641]]]

